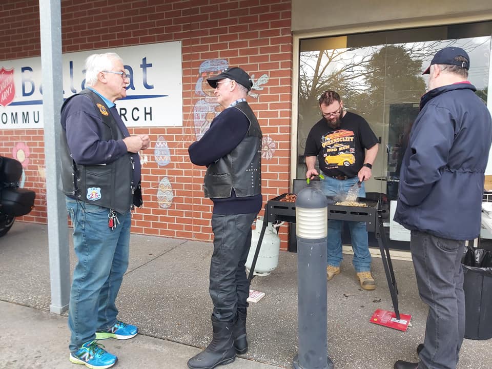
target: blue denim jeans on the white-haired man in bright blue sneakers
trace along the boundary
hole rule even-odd
[[[95,338],[96,330],[116,323],[115,300],[128,268],[131,213],[117,214],[119,224],[108,227],[109,209],[66,198],[73,224],[77,264],[73,271],[68,325],[70,351]]]

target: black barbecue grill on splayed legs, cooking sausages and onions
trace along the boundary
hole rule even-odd
[[[261,228],[261,233],[258,238],[258,244],[256,246],[255,256],[253,258],[249,280],[253,279],[253,272],[255,270],[256,259],[260,252],[261,242],[263,241],[263,236],[265,230],[267,229],[268,223],[276,222],[296,222],[296,203],[285,201],[289,193],[284,193],[277,196],[271,200],[267,201],[265,204],[265,214],[263,219],[263,226]],[[391,294],[391,299],[393,302],[393,307],[395,309],[396,318],[400,319],[400,313],[398,310],[398,289],[396,286],[395,273],[393,271],[393,264],[391,262],[391,257],[389,256],[388,241],[386,234],[383,231],[382,213],[383,210],[380,209],[379,201],[359,198],[358,202],[363,202],[367,207],[359,206],[346,206],[337,205],[337,200],[332,196],[326,196],[328,200],[327,212],[328,220],[346,220],[346,221],[359,221],[365,222],[367,225],[367,232],[374,232],[376,239],[378,240],[379,251],[381,252],[381,259],[383,261],[384,272],[386,273],[386,279],[388,281],[389,293]]]

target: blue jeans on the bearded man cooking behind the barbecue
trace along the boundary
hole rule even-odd
[[[336,179],[325,176],[321,180],[321,191],[326,196],[344,196],[348,190],[357,183],[357,177],[348,178],[345,180]],[[361,183],[359,197],[365,197],[364,182]],[[354,257],[352,263],[355,271],[367,272],[371,271],[371,253],[369,252],[369,242],[367,238],[367,227],[365,222],[347,222],[350,230],[350,238],[352,241],[352,250]],[[329,220],[327,234],[327,255],[326,261],[328,265],[339,267],[342,262],[342,230],[343,220]]]

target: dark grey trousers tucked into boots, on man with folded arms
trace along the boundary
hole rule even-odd
[[[244,264],[251,245],[251,224],[257,214],[212,214],[214,253],[209,292],[213,315],[219,321],[234,321],[237,308],[248,306],[250,282]]]

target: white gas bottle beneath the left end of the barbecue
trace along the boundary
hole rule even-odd
[[[276,227],[281,226],[281,224],[282,223],[278,224]],[[253,258],[255,256],[262,227],[263,218],[258,217],[258,219],[256,219],[256,227],[251,233],[251,247],[245,264],[248,274],[251,270],[251,264],[253,263]],[[277,268],[280,238],[278,237],[276,227],[269,222],[267,228],[265,229],[265,234],[261,242],[260,253],[258,254],[258,259],[256,260],[255,271],[253,272],[254,275],[267,276],[270,272]]]

